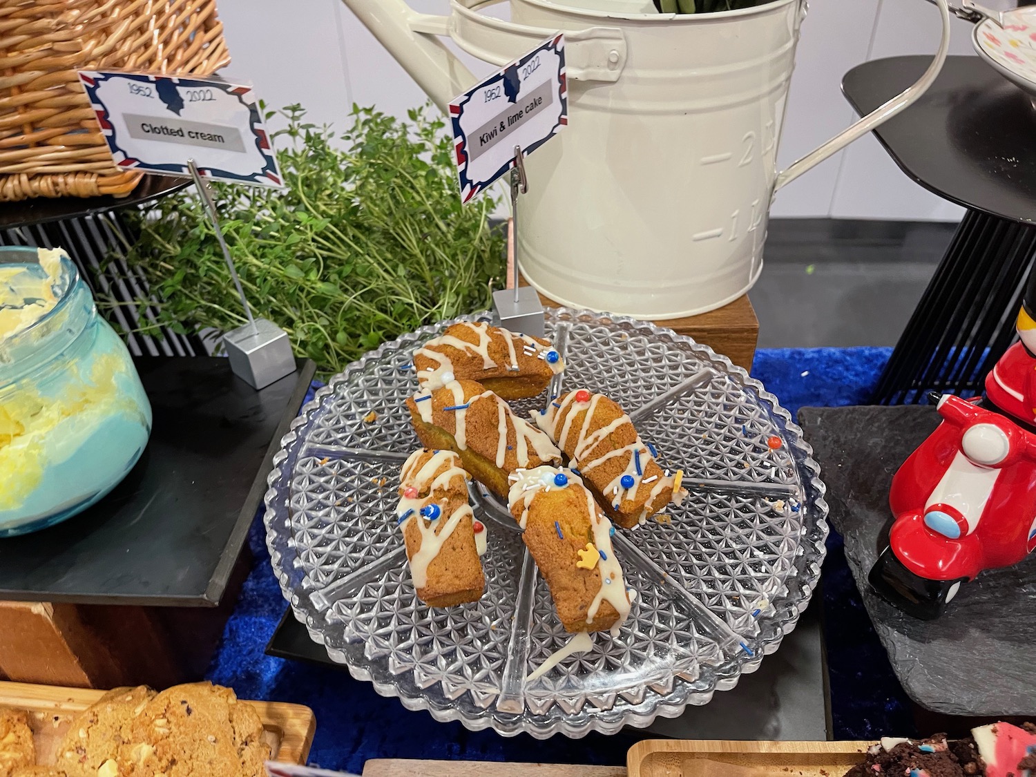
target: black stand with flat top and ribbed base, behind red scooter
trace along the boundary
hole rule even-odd
[[[912,83],[925,56],[854,67],[842,91],[861,114]],[[931,88],[874,135],[917,183],[968,208],[896,344],[874,404],[982,391],[1014,336],[1036,255],[1036,154],[1029,95],[977,57],[947,57]]]

